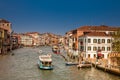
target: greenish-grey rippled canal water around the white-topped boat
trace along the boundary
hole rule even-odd
[[[38,56],[52,53],[50,47],[20,48],[14,55],[0,55],[0,80],[120,80],[119,76],[95,68],[66,66],[62,56],[52,53],[53,70],[40,70]],[[62,53],[65,55],[65,53]]]

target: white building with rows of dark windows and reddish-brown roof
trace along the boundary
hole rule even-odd
[[[85,58],[96,58],[103,55],[107,59],[108,53],[112,51],[112,37],[105,32],[89,32],[79,36],[79,50]]]

